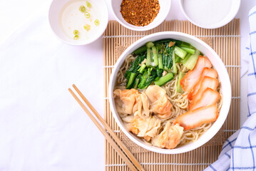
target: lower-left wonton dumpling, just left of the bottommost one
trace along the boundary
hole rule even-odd
[[[161,127],[160,120],[155,118],[155,116],[143,119],[138,116],[128,115],[122,119],[128,131],[136,134],[138,137],[143,137],[147,141],[158,135]]]

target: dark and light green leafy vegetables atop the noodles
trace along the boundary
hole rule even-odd
[[[156,85],[163,86],[178,73],[176,63],[181,63],[191,69],[195,66],[199,54],[200,51],[190,43],[172,38],[149,41],[133,51],[133,55],[137,57],[133,63],[130,63],[130,68],[125,73],[126,88],[145,89],[153,81]],[[141,64],[144,60],[145,63]],[[164,71],[168,71],[165,76],[163,76]],[[182,74],[184,75],[182,72],[179,73],[179,81],[183,78]],[[182,91],[180,83],[177,84],[177,90]]]

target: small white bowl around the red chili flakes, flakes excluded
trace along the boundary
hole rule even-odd
[[[133,26],[132,24],[128,24],[123,19],[123,16],[120,12],[122,0],[111,0],[111,11],[115,16],[116,20],[122,24],[122,26],[129,28],[130,30],[135,31],[147,31],[152,28],[159,26],[166,18],[170,11],[170,2],[171,0],[159,0],[160,10],[158,15],[155,17],[152,23],[148,24],[148,26]]]

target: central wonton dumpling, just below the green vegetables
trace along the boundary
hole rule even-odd
[[[147,90],[145,90],[145,94],[151,102],[150,110],[152,110],[158,118],[168,119],[171,117],[171,108],[173,105],[170,103],[168,95],[163,88],[157,85],[148,86]]]

